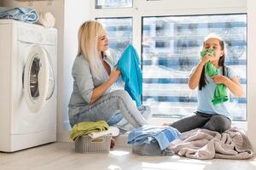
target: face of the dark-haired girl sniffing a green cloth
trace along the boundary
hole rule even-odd
[[[219,44],[218,38],[209,38],[204,43],[204,49],[214,49],[213,53],[213,60],[212,61],[218,61],[218,59],[224,55],[224,50],[221,49],[221,46]]]

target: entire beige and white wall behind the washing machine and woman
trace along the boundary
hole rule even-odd
[[[56,19],[55,27],[58,29],[58,78],[57,78],[57,138],[59,141],[68,140],[69,130],[67,105],[73,89],[71,68],[73,59],[77,54],[77,32],[84,20],[89,19],[89,2],[84,0],[53,0],[48,1],[17,2],[15,0],[0,0],[4,7],[29,6],[38,11],[49,11]]]

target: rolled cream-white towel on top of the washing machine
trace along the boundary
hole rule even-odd
[[[55,17],[50,12],[39,13],[38,24],[45,26],[47,28],[52,28],[55,26]]]

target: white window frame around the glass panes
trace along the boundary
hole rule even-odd
[[[195,14],[241,14],[247,13],[247,1],[244,0],[215,0],[206,3],[204,0],[133,0],[132,8],[104,8],[96,9],[96,1],[90,0],[90,20],[108,17],[132,17],[132,44],[141,54],[142,17],[168,15],[195,15]],[[118,14],[118,15],[117,15]],[[245,92],[247,93],[247,92]],[[248,96],[247,96],[248,98]],[[174,122],[175,118],[151,118],[149,123],[162,124]],[[239,127],[247,129],[247,122],[233,122]]]

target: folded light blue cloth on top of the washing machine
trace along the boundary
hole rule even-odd
[[[0,8],[0,19],[21,20],[28,23],[35,23],[38,20],[38,13],[35,9],[27,7]]]

